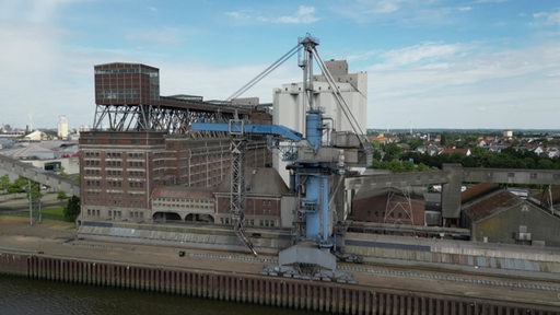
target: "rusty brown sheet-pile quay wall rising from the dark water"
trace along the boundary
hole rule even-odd
[[[259,275],[60,258],[28,253],[0,252],[0,273],[331,314],[558,314],[557,311],[545,306],[518,305],[513,302]]]

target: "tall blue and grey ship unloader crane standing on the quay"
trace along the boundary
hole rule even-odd
[[[267,136],[269,148],[284,150],[283,160],[291,162],[288,165],[288,168],[292,171],[293,187],[291,189],[295,192],[298,200],[294,209],[292,246],[280,250],[278,265],[265,267],[264,273],[353,281],[351,275],[337,270],[337,257],[334,255],[337,249],[334,230],[335,224],[341,220],[337,209],[342,209],[343,206],[340,203],[345,203],[342,183],[348,163],[357,165],[364,162],[361,153],[368,155],[371,147],[364,141],[363,132],[349,135],[348,132],[328,130],[328,124],[325,124],[327,118],[324,117],[322,109],[313,103],[314,56],[319,61],[335,98],[352,125],[355,125],[355,118],[349,112],[332,77],[317,55],[315,49],[315,46],[318,45],[317,39],[306,36],[299,40],[299,45],[304,52],[300,67],[304,72],[303,93],[305,93],[308,108],[305,115],[304,136],[283,126],[252,125],[238,119],[233,119],[229,124],[195,122],[191,128],[198,131],[229,132],[232,136],[232,221],[237,236],[254,255],[256,255],[256,250],[250,240],[246,237],[243,226],[245,136]],[[325,137],[327,133],[328,137]],[[325,138],[330,141],[325,141]]]

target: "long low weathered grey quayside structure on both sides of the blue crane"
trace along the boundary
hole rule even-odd
[[[247,229],[257,253],[276,255],[290,246],[282,230]],[[253,235],[258,235],[254,237]],[[93,241],[125,242],[185,248],[247,252],[231,229],[212,226],[142,225],[124,222],[83,222],[78,237]],[[345,253],[363,257],[364,262],[378,259],[438,264],[439,268],[463,266],[494,270],[556,273],[560,277],[560,250],[506,247],[500,244],[475,244],[465,241],[410,238],[395,235],[348,233]]]

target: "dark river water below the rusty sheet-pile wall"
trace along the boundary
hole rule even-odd
[[[303,311],[0,275],[1,315],[302,315]]]

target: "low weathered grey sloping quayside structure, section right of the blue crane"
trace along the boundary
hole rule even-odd
[[[345,252],[371,259],[464,266],[494,270],[544,272],[560,276],[560,250],[466,241],[399,237],[348,233]]]

